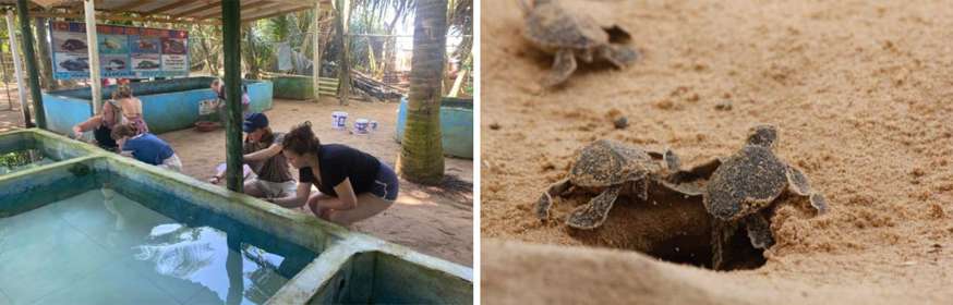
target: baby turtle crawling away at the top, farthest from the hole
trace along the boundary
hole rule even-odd
[[[639,53],[624,45],[629,33],[617,25],[601,26],[595,20],[568,11],[556,0],[520,0],[526,16],[523,36],[544,52],[555,54],[552,71],[543,81],[556,86],[576,71],[576,59],[592,62],[605,59],[618,69],[628,66]]]

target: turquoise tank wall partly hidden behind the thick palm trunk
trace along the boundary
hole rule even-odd
[[[400,98],[397,110],[398,143],[407,125],[407,98]],[[444,155],[473,159],[473,100],[445,97],[441,102],[441,143]]]

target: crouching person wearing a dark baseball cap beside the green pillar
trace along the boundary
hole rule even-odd
[[[298,183],[291,175],[288,160],[281,154],[285,135],[272,132],[265,113],[245,115],[242,131],[245,132],[242,161],[249,164],[256,175],[245,181],[244,193],[261,198],[293,195]],[[209,182],[218,183],[224,174],[224,170],[218,172]]]

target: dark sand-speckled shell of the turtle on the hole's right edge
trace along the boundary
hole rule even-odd
[[[769,206],[787,187],[787,167],[770,148],[746,145],[712,174],[704,208],[721,220],[737,220]]]

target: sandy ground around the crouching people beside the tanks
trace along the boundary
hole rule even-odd
[[[0,109],[5,109],[5,98],[0,98]],[[396,102],[367,103],[358,100],[341,107],[334,98],[322,98],[321,103],[276,99],[274,109],[266,113],[273,130],[277,132],[287,132],[298,123],[311,121],[322,143],[346,144],[394,167],[400,149],[400,144],[394,141],[397,107]],[[349,123],[354,118],[376,120],[378,130],[369,135],[331,130],[333,111],[348,112]],[[0,132],[20,126],[20,112],[0,110]],[[159,137],[172,145],[182,159],[184,172],[191,176],[206,180],[215,173],[218,163],[225,162],[224,129],[209,133],[182,130],[160,134]],[[354,223],[352,229],[472,266],[473,162],[446,158],[445,166],[446,174],[455,178],[450,182],[451,187],[422,186],[401,180],[397,203],[378,216]],[[292,173],[297,178],[298,171],[292,170]]]

